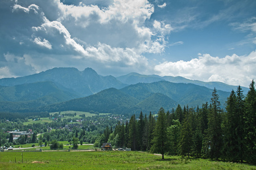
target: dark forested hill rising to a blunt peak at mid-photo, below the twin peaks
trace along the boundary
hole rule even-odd
[[[96,111],[100,113],[127,113],[138,100],[115,88],[98,92],[95,95],[49,105],[49,112],[56,111]],[[44,108],[42,108],[44,109]]]

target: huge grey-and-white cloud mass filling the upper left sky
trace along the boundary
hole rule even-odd
[[[9,15],[10,21],[0,25],[7,35],[0,39],[0,68],[9,70],[5,76],[60,66],[146,70],[148,61],[143,54],[164,51],[171,25],[157,20],[146,25],[154,13],[147,0],[105,1],[105,6],[94,2],[0,2],[11,8],[3,8],[2,14]],[[16,71],[16,66],[28,71]]]

